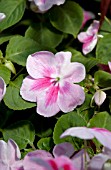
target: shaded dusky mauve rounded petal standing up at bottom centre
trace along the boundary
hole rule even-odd
[[[60,143],[58,145],[55,145],[55,147],[53,148],[53,155],[55,158],[61,155],[70,158],[73,154],[74,154],[74,147],[71,143],[68,142]]]

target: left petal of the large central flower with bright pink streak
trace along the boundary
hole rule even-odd
[[[22,83],[20,95],[23,99],[31,102],[37,101],[37,95],[40,91],[48,88],[51,85],[49,78],[33,79],[27,76]]]

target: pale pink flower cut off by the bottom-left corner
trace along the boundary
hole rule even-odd
[[[10,139],[7,143],[0,140],[0,170],[19,170],[19,167],[15,167],[17,168],[16,162],[20,157],[20,150],[13,140]]]

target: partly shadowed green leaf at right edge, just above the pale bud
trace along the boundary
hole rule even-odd
[[[105,71],[97,71],[94,75],[94,82],[100,87],[110,87],[111,86],[111,74]]]

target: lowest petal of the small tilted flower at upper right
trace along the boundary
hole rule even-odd
[[[88,54],[89,52],[91,52],[94,47],[96,46],[97,44],[97,41],[98,41],[98,37],[97,35],[95,35],[91,41],[83,44],[83,47],[82,47],[82,51],[83,51],[83,54]]]

